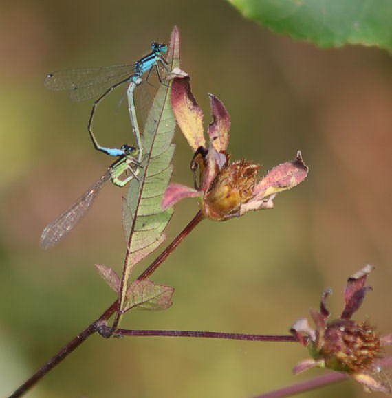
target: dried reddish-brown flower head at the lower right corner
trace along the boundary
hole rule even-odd
[[[298,363],[294,373],[314,366],[325,367],[351,375],[367,390],[391,393],[389,383],[378,377],[380,368],[375,365],[380,358],[382,346],[390,345],[391,339],[389,336],[380,338],[367,322],[351,320],[353,313],[362,305],[365,294],[371,290],[371,287],[364,284],[372,270],[373,267],[367,265],[347,280],[345,308],[340,318],[328,321],[326,300],[331,290],[327,289],[323,293],[320,310],[309,311],[316,329],[309,326],[306,318],[295,322],[291,331],[301,344],[307,346],[312,358]]]

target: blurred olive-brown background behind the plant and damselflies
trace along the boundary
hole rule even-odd
[[[43,87],[50,71],[132,63],[151,41],[182,35],[182,67],[210,122],[208,93],[230,113],[232,159],[262,173],[298,149],[310,168],[275,209],[204,221],[155,273],[173,285],[171,309],[129,314],[123,327],[286,334],[318,306],[342,309],[347,276],[377,267],[358,320],[392,331],[392,60],[375,48],[320,50],[244,20],[224,1],[25,0],[0,4],[0,395],[8,395],[102,313],[114,294],[93,265],[120,270],[121,195],[107,187],[82,223],[47,252],[44,226],[111,159],[87,135],[91,102]],[[121,90],[120,90],[121,91]],[[95,129],[102,144],[131,143],[118,97]],[[192,153],[176,134],[173,181],[190,184]],[[169,239],[197,211],[180,203]],[[146,265],[146,264],[144,264]],[[94,336],[30,397],[250,397],[321,375],[294,377],[298,344]],[[303,397],[364,397],[343,382]],[[367,395],[366,395],[367,396]],[[377,396],[376,394],[373,396]]]

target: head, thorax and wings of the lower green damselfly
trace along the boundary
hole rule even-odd
[[[91,186],[73,206],[65,210],[52,223],[48,224],[41,234],[40,244],[44,249],[55,245],[58,241],[68,234],[80,219],[86,214],[96,199],[101,188],[111,180],[116,186],[124,186],[133,178],[138,178],[140,163],[135,156],[138,149],[134,146],[122,145],[121,151],[124,155],[120,156],[116,162],[111,164],[107,172]],[[122,175],[125,175],[122,178]]]

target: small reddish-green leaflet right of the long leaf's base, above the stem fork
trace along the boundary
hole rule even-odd
[[[167,309],[173,304],[174,287],[165,285],[155,285],[152,280],[134,280],[129,287],[127,294],[127,306],[124,311],[132,307],[138,309]]]

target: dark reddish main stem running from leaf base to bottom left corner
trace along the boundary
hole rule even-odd
[[[49,361],[46,362],[41,368],[39,368],[30,379],[24,382],[17,390],[10,395],[10,398],[21,397],[24,393],[26,393],[34,384],[39,382],[47,373],[52,371],[52,369],[58,365],[60,362],[65,360],[65,358],[72,353],[75,349],[80,346],[83,342],[85,342],[91,335],[96,333],[97,327],[102,323],[106,322],[113,313],[116,312],[118,307],[118,300],[113,302],[113,304],[104,312],[102,315],[93,323],[89,324],[89,326],[80,332],[73,340],[71,340],[67,345],[63,346],[63,348],[56,353]]]

